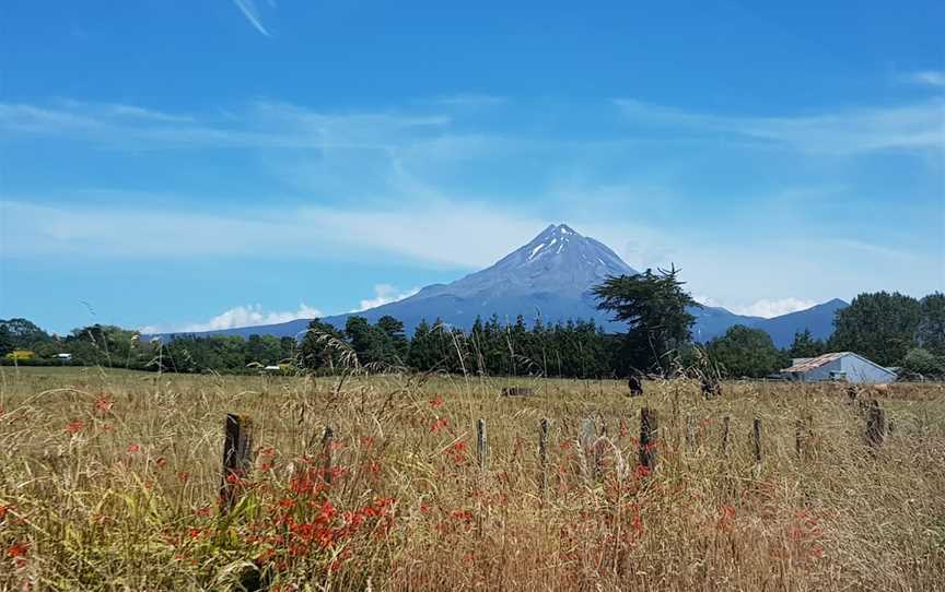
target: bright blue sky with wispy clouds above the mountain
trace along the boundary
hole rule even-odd
[[[828,4],[4,2],[0,318],[345,312],[559,222],[739,312],[943,289],[945,4]]]

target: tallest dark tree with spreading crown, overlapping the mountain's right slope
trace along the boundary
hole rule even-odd
[[[666,374],[672,358],[691,340],[696,317],[688,307],[700,306],[682,289],[679,270],[646,270],[637,275],[611,276],[593,288],[597,308],[627,323],[618,371],[633,369]]]

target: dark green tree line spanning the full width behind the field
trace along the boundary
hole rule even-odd
[[[503,323],[492,316],[477,319],[469,330],[424,320],[408,335],[394,317],[371,323],[352,316],[343,328],[315,319],[300,340],[179,335],[142,342],[137,332],[118,327],[95,324],[58,338],[28,320],[10,319],[0,320],[0,360],[62,364],[55,356],[68,353],[71,364],[178,372],[278,367],[331,374],[360,368],[561,378],[667,376],[708,364],[719,376],[757,378],[789,366],[792,358],[850,351],[883,366],[898,366],[907,376],[945,376],[941,293],[921,299],[898,293],[861,294],[837,312],[829,340],[804,331],[785,350],[777,348],[765,331],[744,325],[705,344],[693,343],[691,310],[699,305],[676,269],[610,277],[593,293],[598,308],[625,322],[626,332],[606,333],[594,321],[546,324],[538,318],[529,324],[520,316]]]

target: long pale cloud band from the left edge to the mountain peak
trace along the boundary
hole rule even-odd
[[[258,257],[258,245],[265,244],[268,252],[292,252],[303,259],[357,260],[383,252],[431,267],[466,269],[493,263],[548,224],[523,212],[447,200],[369,211],[246,210],[238,216],[78,203],[49,206],[24,200],[0,202],[0,218],[5,225],[0,257],[8,258]]]

